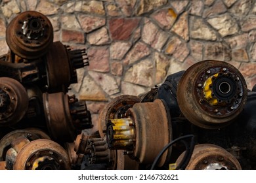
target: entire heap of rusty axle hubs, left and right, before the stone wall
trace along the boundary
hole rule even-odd
[[[0,169],[256,169],[256,87],[223,61],[205,60],[142,96],[100,112],[67,95],[85,50],[53,42],[39,12],[7,27],[0,58]]]

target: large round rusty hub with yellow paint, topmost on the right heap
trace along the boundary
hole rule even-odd
[[[192,65],[179,82],[177,99],[192,124],[217,129],[230,124],[243,110],[247,87],[236,67],[207,60]]]

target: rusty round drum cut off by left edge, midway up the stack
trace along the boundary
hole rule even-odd
[[[0,125],[19,122],[28,109],[28,95],[20,82],[0,77]]]

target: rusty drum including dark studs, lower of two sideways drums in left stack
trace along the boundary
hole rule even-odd
[[[92,127],[85,101],[77,101],[62,92],[43,93],[45,119],[51,137],[73,142],[82,129]]]

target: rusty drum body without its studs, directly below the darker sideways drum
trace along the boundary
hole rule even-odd
[[[45,119],[51,137],[58,141],[74,141],[77,131],[73,125],[68,95],[43,93]]]

